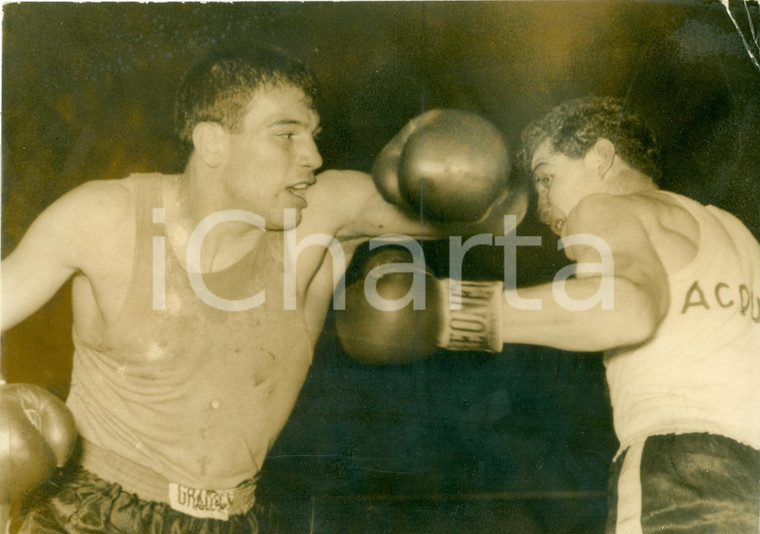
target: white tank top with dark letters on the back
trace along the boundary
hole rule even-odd
[[[760,449],[760,245],[733,215],[668,194],[699,222],[699,248],[669,277],[656,336],[605,355],[620,450],[686,432]]]

